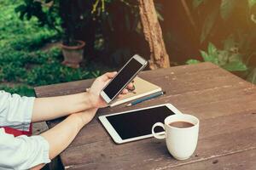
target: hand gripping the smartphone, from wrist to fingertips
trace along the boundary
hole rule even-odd
[[[90,102],[94,108],[102,108],[108,106],[104,99],[100,96],[102,89],[108,84],[108,82],[117,74],[114,72],[107,72],[103,74],[101,77],[97,77],[96,80],[92,83],[88,93],[90,95]],[[127,88],[132,89],[133,84],[129,83]],[[127,94],[128,90],[125,88],[121,94],[119,94],[119,98],[122,95]]]

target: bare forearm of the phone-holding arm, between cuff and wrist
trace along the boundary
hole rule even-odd
[[[32,122],[47,121],[93,107],[88,93],[37,98],[33,106]]]

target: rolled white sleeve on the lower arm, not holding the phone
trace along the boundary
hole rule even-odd
[[[44,137],[14,137],[0,128],[0,169],[23,170],[49,161],[49,143]]]

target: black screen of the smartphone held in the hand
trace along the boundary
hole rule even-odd
[[[119,93],[120,89],[125,86],[125,84],[137,73],[137,71],[143,65],[139,63],[136,59],[131,59],[131,61],[125,65],[125,67],[119,71],[118,75],[113,78],[113,80],[108,84],[106,88],[103,89],[105,94],[108,95],[109,99]]]

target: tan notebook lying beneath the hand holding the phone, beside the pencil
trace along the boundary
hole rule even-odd
[[[113,107],[115,105],[121,105],[131,100],[139,99],[149,94],[160,92],[162,90],[159,86],[156,86],[155,84],[148,82],[140,77],[135,77],[133,84],[135,86],[134,92],[136,94],[131,92],[129,94],[125,94],[121,99],[114,100],[113,103],[109,106]]]

